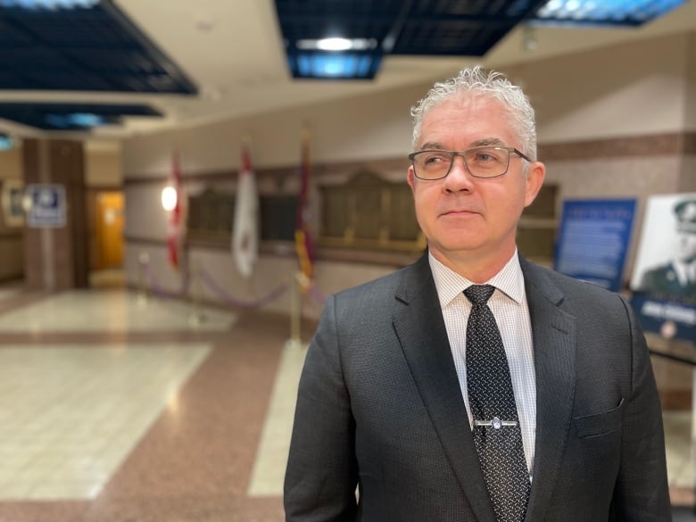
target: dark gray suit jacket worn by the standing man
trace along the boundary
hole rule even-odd
[[[659,397],[630,308],[520,262],[537,387],[526,520],[671,520]],[[328,299],[302,372],[285,506],[288,522],[495,521],[427,255]]]

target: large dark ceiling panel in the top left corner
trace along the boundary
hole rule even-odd
[[[0,4],[0,89],[196,94],[112,3],[46,9]]]

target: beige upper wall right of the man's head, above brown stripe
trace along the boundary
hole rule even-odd
[[[684,130],[689,38],[624,44],[529,63],[526,82],[540,143]]]

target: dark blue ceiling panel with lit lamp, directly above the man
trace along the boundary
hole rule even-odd
[[[278,23],[285,39],[290,70],[295,78],[371,79],[388,54],[483,56],[510,29],[532,17],[547,0],[276,0]],[[336,74],[341,52],[312,50],[302,40],[322,37],[363,38],[374,42],[365,50],[346,53],[369,60],[365,74]],[[323,60],[324,62],[320,62]]]

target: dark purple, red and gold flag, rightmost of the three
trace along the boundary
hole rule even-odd
[[[300,195],[297,201],[295,216],[294,243],[297,261],[302,270],[304,281],[302,289],[307,290],[311,283],[314,261],[314,249],[311,238],[311,206],[310,206],[310,134],[302,133],[302,179]]]

